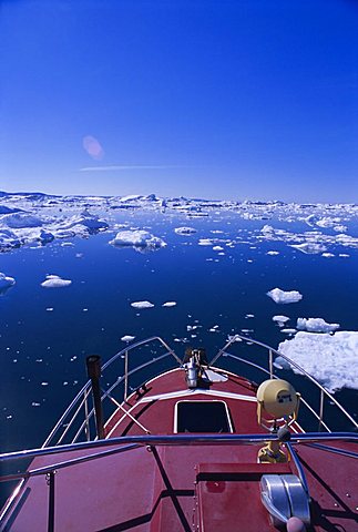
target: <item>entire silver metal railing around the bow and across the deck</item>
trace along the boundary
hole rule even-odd
[[[267,368],[263,367],[257,361],[252,361],[247,358],[242,358],[236,355],[233,355],[227,351],[227,349],[233,346],[235,342],[246,342],[247,345],[254,345],[264,348],[267,351]],[[164,354],[158,355],[156,351],[151,351],[151,360],[143,361],[133,369],[130,369],[130,354],[135,349],[141,349],[142,347],[149,347],[152,342],[158,342],[161,348],[165,349]],[[325,415],[325,400],[329,399],[347,418],[355,427],[358,428],[358,423],[355,419],[346,411],[346,409],[329,393],[314,377],[307,374],[300,366],[290,360],[284,354],[277,351],[276,349],[263,344],[260,341],[254,340],[252,338],[235,335],[212,359],[209,367],[213,368],[213,365],[221,358],[226,357],[232,360],[244,364],[247,367],[254,368],[255,370],[264,374],[265,377],[268,376],[270,379],[277,379],[278,377],[274,372],[274,355],[284,358],[291,367],[294,367],[300,375],[307,378],[318,390],[319,390],[319,406],[318,411],[308,403],[305,398],[301,398],[303,405],[308,409],[308,411],[314,415],[318,421],[318,432],[305,433],[299,432],[291,434],[290,441],[286,443],[289,454],[293,458],[294,464],[297,469],[298,475],[301,479],[305,490],[308,492],[308,487],[304,470],[299,462],[298,456],[295,451],[295,447],[298,444],[305,444],[315,447],[319,450],[344,454],[348,458],[358,458],[358,453],[349,450],[346,451],[340,448],[335,448],[329,444],[334,441],[350,441],[358,442],[358,434],[354,432],[331,432],[328,424],[324,419]],[[136,375],[139,371],[155,365],[166,358],[172,358],[175,361],[175,367],[182,366],[182,360],[176,356],[176,354],[167,346],[167,344],[160,337],[153,336],[142,341],[137,341],[127,346],[126,348],[119,351],[114,355],[109,361],[102,366],[102,374],[108,369],[113,369],[113,362],[117,360],[124,361],[124,375],[116,378],[112,385],[108,385],[106,390],[102,390],[101,401],[104,402],[109,400],[114,407],[114,411],[120,409],[124,410],[124,416],[131,416],[131,412],[125,410],[123,405],[129,396],[130,378]],[[256,360],[256,359],[255,359]],[[213,368],[214,369],[214,368]],[[216,369],[216,368],[215,368]],[[113,371],[112,371],[113,372]],[[157,375],[157,370],[155,371]],[[85,456],[78,456],[69,460],[61,459],[61,461],[55,461],[45,467],[30,469],[24,472],[19,472],[14,474],[8,474],[0,478],[0,482],[3,481],[20,481],[16,490],[12,492],[12,495],[8,500],[6,507],[3,508],[0,514],[0,523],[4,521],[13,505],[17,503],[21,493],[23,492],[23,487],[28,479],[38,475],[47,475],[50,495],[52,490],[52,495],[54,493],[54,482],[55,482],[55,471],[64,469],[74,464],[81,464],[89,462],[91,460],[103,459],[112,454],[119,454],[123,452],[131,451],[141,447],[155,447],[155,446],[241,446],[241,444],[262,444],[267,443],[268,441],[277,441],[277,436],[275,433],[265,433],[265,434],[171,434],[171,436],[151,436],[145,427],[141,426],[143,436],[125,436],[119,438],[108,438],[102,440],[93,439],[91,433],[93,431],[94,424],[94,409],[89,406],[89,396],[91,393],[91,381],[89,380],[75,398],[72,400],[70,406],[67,408],[64,413],[61,416],[57,424],[51,430],[49,437],[47,438],[44,444],[40,449],[23,450],[16,452],[8,452],[0,454],[0,463],[7,463],[13,460],[19,459],[33,459],[37,457],[47,457],[51,454],[67,453],[70,451],[85,451],[93,449],[94,452]],[[113,397],[113,392],[117,392],[119,388],[122,388],[122,398],[116,400]],[[137,421],[137,420],[135,420]],[[75,422],[78,424],[75,426]],[[298,423],[296,423],[298,429],[303,430]],[[327,432],[320,432],[321,429],[325,429]],[[72,437],[70,437],[72,431]],[[74,431],[74,434],[73,434]],[[83,436],[86,441],[79,441]],[[64,441],[70,438],[70,443],[64,443]],[[51,509],[51,497],[49,498],[49,528],[48,530],[53,530],[53,509]],[[53,507],[53,504],[52,504]]]

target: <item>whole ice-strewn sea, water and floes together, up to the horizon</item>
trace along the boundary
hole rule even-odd
[[[1,449],[42,443],[86,378],[85,356],[99,354],[105,361],[123,349],[129,338],[137,341],[158,335],[180,356],[192,345],[206,347],[212,358],[236,332],[278,348],[295,338],[297,324],[305,325],[305,334],[315,327],[329,330],[331,324],[339,325],[338,331],[358,330],[355,206],[207,206],[181,198],[165,204],[137,196],[116,203],[12,200],[0,205],[22,207],[29,215],[12,217],[12,227],[0,216],[0,237],[6,243],[0,273],[14,279],[0,297]],[[13,227],[25,219],[31,227]],[[33,226],[38,219],[43,221],[41,227]],[[178,228],[193,231],[175,231]],[[131,232],[124,235],[125,245],[111,245],[123,231]],[[143,237],[137,232],[145,232],[145,242],[165,245],[137,245],[137,237]],[[131,235],[136,245],[131,245]],[[9,244],[17,241],[17,245]],[[305,252],[295,247],[300,244],[307,244]],[[333,256],[328,259],[325,253]],[[59,285],[49,277],[54,275],[71,283],[65,288],[44,289],[44,279]],[[296,290],[303,297],[280,305],[267,297],[274,288]],[[143,301],[153,307],[132,306]],[[290,330],[290,336],[285,330]],[[349,351],[347,368],[341,345],[337,356],[329,351],[326,360],[318,358],[320,348],[309,344],[316,351],[315,365],[308,369],[336,389],[336,397],[357,416],[354,372],[358,365],[354,362],[358,355],[355,349]],[[238,344],[234,350],[243,354]],[[250,356],[259,362],[266,360],[256,350]],[[333,367],[328,358],[334,360]],[[319,375],[321,365],[324,375]],[[242,366],[232,369],[244,372]],[[341,379],[349,388],[341,390],[336,378],[340,371],[349,371],[349,378]],[[298,375],[289,369],[276,368],[276,372],[305,392]]]

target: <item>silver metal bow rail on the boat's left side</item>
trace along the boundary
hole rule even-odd
[[[140,340],[140,341],[136,341],[134,344],[131,344],[130,346],[126,346],[124,349],[122,349],[121,351],[116,352],[112,358],[110,358],[110,360],[108,360],[103,366],[102,366],[102,371],[104,371],[109,366],[111,366],[115,360],[117,360],[119,358],[121,357],[127,357],[127,354],[130,351],[133,351],[134,349],[141,347],[141,346],[144,346],[146,344],[150,344],[152,341],[158,341],[165,349],[166,349],[166,354],[165,356],[170,356],[172,355],[174,357],[174,359],[178,362],[178,365],[182,365],[182,360],[177,357],[177,355],[173,351],[173,349],[171,349],[168,347],[168,345],[158,336],[152,336],[150,338],[146,338],[144,340]],[[164,358],[164,355],[158,357],[157,359],[161,359],[161,358]],[[116,387],[119,386],[120,383],[125,382],[125,387],[127,387],[127,378],[135,374],[136,371],[140,371],[141,369],[154,364],[155,361],[157,361],[157,359],[154,359],[154,360],[150,360],[147,362],[144,362],[143,365],[140,365],[137,366],[136,368],[134,368],[133,370],[129,371],[129,372],[125,372],[123,377],[121,377],[120,379],[116,380],[116,382],[108,390],[109,393]],[[58,433],[58,431],[61,429],[61,427],[63,426],[63,423],[65,422],[65,420],[69,418],[69,415],[72,412],[72,410],[74,410],[74,408],[78,406],[75,412],[72,415],[69,423],[67,424],[65,427],[65,430],[64,432],[61,434],[60,439],[58,440],[58,443],[61,443],[63,441],[63,438],[65,436],[67,432],[69,432],[70,428],[72,427],[74,420],[76,419],[78,415],[80,413],[81,411],[81,408],[84,406],[84,409],[86,410],[86,399],[88,399],[88,396],[90,395],[90,388],[91,388],[91,380],[88,380],[85,382],[85,385],[81,388],[81,390],[78,392],[78,395],[74,397],[74,399],[71,401],[71,403],[68,406],[68,408],[65,409],[65,411],[63,412],[63,415],[60,417],[60,419],[58,420],[58,422],[55,423],[55,426],[53,427],[53,429],[51,430],[50,434],[48,436],[48,438],[45,439],[44,443],[43,443],[43,448],[48,447],[50,444],[50,442],[52,441],[52,439],[54,438],[54,436]],[[106,397],[106,395],[103,395],[102,396],[102,401],[103,399]],[[79,438],[81,431],[84,429],[84,428],[88,428],[89,429],[89,420],[94,416],[94,411],[93,409],[90,411],[90,412],[85,412],[85,419],[84,419],[84,422],[82,423],[81,426],[81,429],[78,431],[78,433],[75,434],[75,440]]]

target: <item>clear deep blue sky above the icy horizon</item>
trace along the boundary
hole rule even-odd
[[[358,2],[1,0],[0,190],[358,202]]]

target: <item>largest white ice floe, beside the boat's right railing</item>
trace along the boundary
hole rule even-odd
[[[299,331],[293,339],[279,344],[278,350],[329,391],[358,388],[358,331],[342,330],[334,335]]]

